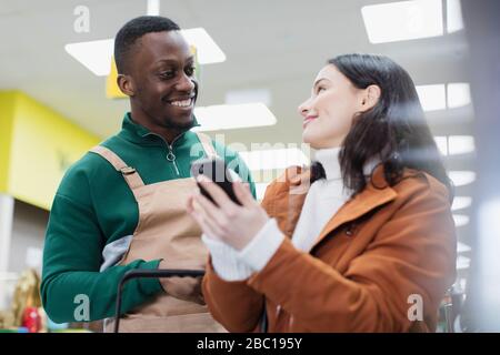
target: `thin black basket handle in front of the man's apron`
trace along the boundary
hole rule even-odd
[[[123,274],[118,284],[117,292],[117,311],[114,314],[114,333],[118,333],[120,326],[121,314],[121,292],[123,285],[132,278],[164,278],[164,277],[199,277],[203,276],[203,270],[170,270],[170,268],[153,268],[153,270],[130,270]]]

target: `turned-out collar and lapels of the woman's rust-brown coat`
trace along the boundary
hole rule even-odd
[[[294,169],[294,172],[296,173],[290,173],[290,171],[288,171],[286,174],[286,182],[288,183],[281,185],[281,189],[288,190],[287,197],[283,199],[286,200],[283,201],[284,205],[271,206],[272,200],[280,200],[276,199],[276,195],[270,196],[268,203],[263,202],[263,205],[264,207],[268,207],[268,211],[276,213],[273,216],[278,220],[278,224],[289,237],[293,234],[307,192],[310,187],[310,171],[302,172],[299,168]],[[276,191],[276,193],[279,193],[279,191]],[[397,195],[398,193],[386,182],[383,165],[379,164],[374,168],[372,179],[367,183],[364,190],[354,197],[348,200],[327,222],[312,247],[318,245],[328,234],[342,224],[360,219],[374,209],[393,201]]]

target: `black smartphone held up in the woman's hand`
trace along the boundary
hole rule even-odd
[[[199,159],[192,162],[191,176],[197,179],[198,175],[200,174],[203,174],[204,176],[213,181],[216,184],[218,184],[219,187],[221,187],[226,192],[226,194],[231,199],[232,202],[241,205],[232,187],[233,182],[238,181],[239,176],[234,171],[228,169],[223,160],[221,160],[220,158],[213,159],[208,158],[208,159]],[[216,201],[213,201],[210,194],[199,183],[198,187],[200,187],[200,192],[203,196],[206,196],[213,204],[217,205]]]

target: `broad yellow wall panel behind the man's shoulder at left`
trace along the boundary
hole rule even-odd
[[[50,210],[68,166],[100,139],[22,92],[13,92],[11,102],[14,104],[6,191]]]

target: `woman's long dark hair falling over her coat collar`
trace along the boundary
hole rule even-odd
[[[452,196],[452,184],[408,72],[382,55],[343,54],[328,63],[358,89],[376,84],[381,90],[377,104],[354,116],[342,143],[339,161],[344,186],[353,194],[361,192],[367,185],[363,166],[378,158],[390,186],[400,181],[404,168],[410,168],[434,176]],[[318,173],[321,175],[321,166],[313,165],[312,174]]]

